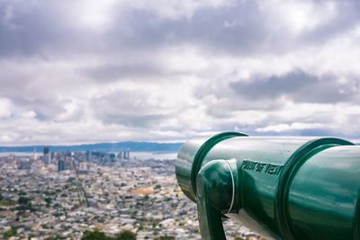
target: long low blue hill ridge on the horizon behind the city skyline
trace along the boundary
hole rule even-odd
[[[32,152],[36,149],[42,151],[43,147],[49,147],[51,152],[59,151],[102,151],[116,152],[125,149],[135,152],[177,152],[183,143],[153,143],[153,142],[118,142],[118,143],[95,143],[74,146],[23,146],[23,147],[0,147],[0,152]]]

